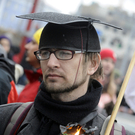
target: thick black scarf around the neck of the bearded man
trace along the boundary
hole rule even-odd
[[[34,102],[35,109],[61,125],[79,122],[92,112],[97,107],[102,92],[101,84],[93,80],[84,96],[74,101],[61,102],[51,98],[50,94],[46,92],[43,82],[40,89]]]

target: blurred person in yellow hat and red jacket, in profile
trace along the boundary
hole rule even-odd
[[[25,85],[25,87],[19,94],[17,102],[34,101],[39,91],[39,85],[42,81],[42,71],[40,68],[40,62],[39,60],[36,59],[34,51],[38,50],[42,29],[43,28],[38,29],[34,33],[32,40],[25,45],[26,49],[25,59],[31,65],[31,69],[24,70],[25,75],[28,79],[28,84]]]

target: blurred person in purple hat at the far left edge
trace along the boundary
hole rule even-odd
[[[5,35],[1,35],[0,36],[0,44],[3,46],[3,48],[5,49],[6,53],[7,53],[7,58],[13,60],[13,51],[11,50],[11,40],[5,36]]]

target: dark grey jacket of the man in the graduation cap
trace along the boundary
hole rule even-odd
[[[9,122],[9,119],[11,115],[14,113],[14,111],[21,105],[21,103],[12,103],[8,105],[2,105],[0,106],[0,135],[3,135],[5,128]],[[10,110],[10,115],[7,110]],[[4,115],[2,115],[4,113]],[[98,114],[92,122],[92,126],[97,126],[99,129],[96,131],[95,135],[99,135],[99,132],[102,127],[102,123],[104,122],[105,117],[103,115]],[[3,122],[4,120],[4,122]],[[43,118],[41,117],[41,114],[34,108],[34,106],[31,107],[29,113],[27,114],[25,120],[23,121],[22,125],[20,126],[20,131],[17,135],[41,135],[40,129],[42,128],[41,121],[43,121]],[[45,123],[44,123],[45,124]],[[47,124],[47,122],[46,122]],[[48,126],[51,127],[51,124]],[[50,129],[47,129],[50,130]],[[45,134],[45,135],[57,135],[55,134],[55,131],[52,129],[53,134]],[[49,131],[48,131],[49,132]]]

